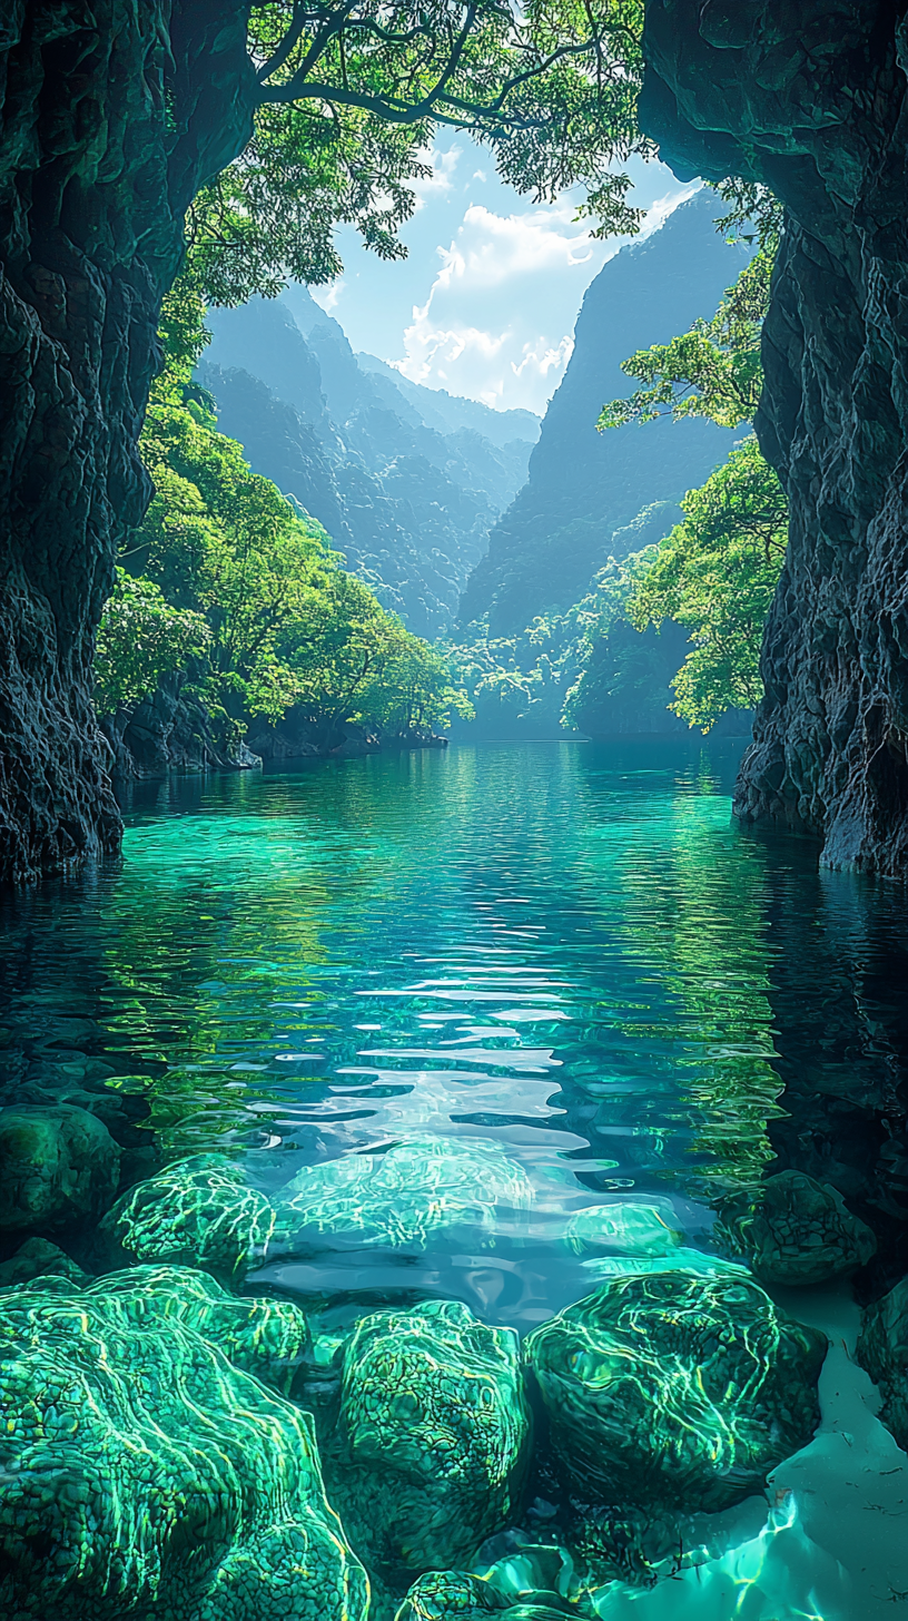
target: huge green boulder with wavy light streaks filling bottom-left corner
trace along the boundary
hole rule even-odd
[[[365,1621],[311,1420],[178,1316],[8,1290],[0,1389],[0,1615]]]

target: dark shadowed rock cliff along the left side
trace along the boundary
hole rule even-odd
[[[3,6],[0,880],[118,845],[94,634],[151,493],[136,439],[182,217],[248,138],[251,79],[243,5]]]

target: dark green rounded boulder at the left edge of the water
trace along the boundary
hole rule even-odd
[[[110,1204],[120,1148],[71,1104],[0,1109],[0,1230],[57,1230]]]

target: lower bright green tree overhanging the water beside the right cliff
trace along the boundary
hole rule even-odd
[[[665,619],[691,627],[694,650],[670,705],[704,731],[728,708],[762,695],[762,631],[785,561],[788,509],[772,467],[749,436],[681,503],[684,522],[658,546],[627,603],[642,631]]]

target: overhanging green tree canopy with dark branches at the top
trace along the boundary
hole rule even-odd
[[[652,154],[637,128],[642,0],[266,0],[253,10],[259,84],[246,151],[190,209],[196,282],[217,303],[324,282],[332,229],[400,258],[400,224],[435,128],[491,146],[519,191],[582,183],[600,232],[634,232],[615,160]]]

